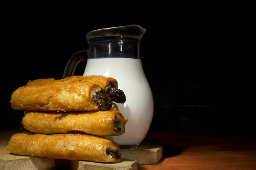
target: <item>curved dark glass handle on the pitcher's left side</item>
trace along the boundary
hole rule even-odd
[[[66,77],[73,76],[76,70],[76,66],[79,62],[88,58],[88,50],[78,51],[73,54],[67,61],[67,65],[64,70],[63,79]]]

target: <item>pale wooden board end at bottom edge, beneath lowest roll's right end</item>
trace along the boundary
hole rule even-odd
[[[89,161],[71,161],[71,170],[137,170],[136,161],[121,158],[118,163],[96,163]]]

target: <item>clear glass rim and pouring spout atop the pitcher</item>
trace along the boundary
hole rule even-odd
[[[110,28],[102,28],[90,31],[86,34],[87,41],[95,37],[131,37],[138,40],[142,39],[146,29],[138,25],[127,25]]]

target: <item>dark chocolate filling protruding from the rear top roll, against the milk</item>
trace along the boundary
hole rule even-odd
[[[116,103],[125,103],[126,102],[126,96],[125,93],[118,89],[115,88],[115,85],[113,82],[109,82],[104,91],[109,94],[111,99],[116,102]]]

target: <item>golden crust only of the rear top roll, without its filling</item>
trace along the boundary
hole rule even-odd
[[[94,82],[102,87],[102,89],[105,89],[105,87],[108,85],[109,82],[113,82],[114,87],[118,88],[118,83],[116,79],[112,77],[105,77],[105,76],[71,76],[64,79],[58,79],[55,80],[53,78],[49,79],[36,79],[32,80],[26,83],[26,85],[44,85],[56,81],[65,81],[65,80],[81,80],[81,81],[88,81],[88,82]]]

